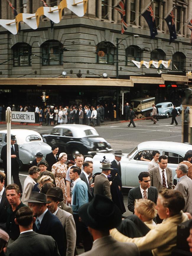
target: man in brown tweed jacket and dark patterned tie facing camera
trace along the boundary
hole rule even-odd
[[[173,189],[172,171],[167,168],[168,158],[166,155],[160,155],[158,167],[149,170],[151,185],[160,191],[163,187]]]

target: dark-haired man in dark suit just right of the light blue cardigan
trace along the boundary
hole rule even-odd
[[[91,187],[91,184],[90,184],[90,180],[89,180],[90,175],[92,174],[92,172],[93,172],[93,162],[92,161],[84,162],[83,163],[83,172],[80,174],[79,177],[87,185],[89,202],[94,197],[94,194],[93,194],[93,191],[92,191],[92,187]]]

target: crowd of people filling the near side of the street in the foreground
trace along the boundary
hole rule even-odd
[[[58,151],[54,145],[45,160],[36,153],[22,193],[19,184],[5,185],[6,169],[0,172],[0,255],[74,256],[78,248],[103,256],[192,253],[191,151],[178,164],[176,186],[168,157],[152,152],[149,172],[141,170],[138,187],[128,193],[128,217],[121,150],[112,162],[104,156],[94,175],[92,158],[77,154],[72,161]],[[180,225],[187,226],[181,239],[188,248],[177,248]]]

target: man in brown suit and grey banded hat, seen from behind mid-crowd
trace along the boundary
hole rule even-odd
[[[104,195],[112,200],[108,175],[113,168],[111,168],[111,164],[108,159],[104,158],[101,163],[102,167],[100,167],[100,169],[102,169],[102,173],[95,176],[94,193],[95,195]]]

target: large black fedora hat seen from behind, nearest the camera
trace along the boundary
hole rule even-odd
[[[82,205],[79,216],[87,226],[96,230],[116,228],[122,221],[117,205],[103,195],[95,195],[91,202]]]

